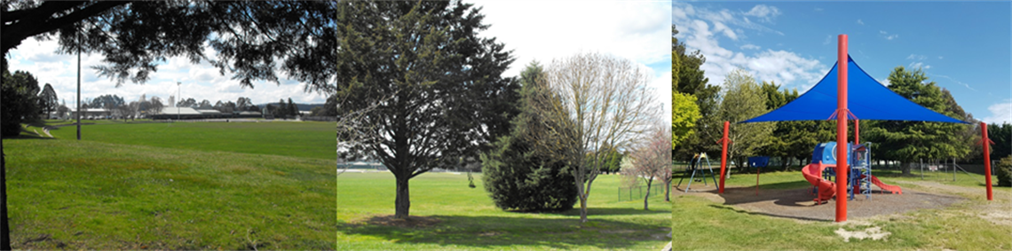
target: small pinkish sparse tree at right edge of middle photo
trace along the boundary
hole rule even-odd
[[[643,197],[643,210],[649,211],[648,200],[650,188],[655,179],[664,181],[666,186],[671,183],[671,131],[664,124],[658,124],[651,130],[650,138],[640,144],[630,154],[632,166],[622,168],[622,175],[629,177],[634,183],[643,179],[647,182],[647,194]]]

